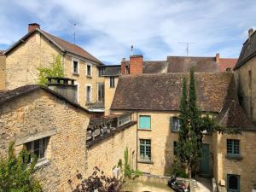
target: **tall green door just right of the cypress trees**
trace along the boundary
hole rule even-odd
[[[200,162],[200,174],[202,176],[210,176],[210,149],[209,144],[202,144],[202,157]]]

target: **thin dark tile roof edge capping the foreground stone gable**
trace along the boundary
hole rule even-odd
[[[37,91],[37,90],[46,90],[52,95],[56,96],[57,98],[64,100],[65,102],[73,105],[75,108],[80,108],[84,110],[86,113],[90,113],[88,109],[81,107],[78,103],[72,102],[69,99],[67,99],[64,96],[61,96],[60,94],[56,93],[53,90],[49,90],[47,87],[39,86],[37,84],[28,84],[25,86],[21,86],[19,88],[16,88],[15,90],[6,90],[6,91],[0,91],[0,106],[5,104],[6,102],[12,102],[15,100],[15,98],[18,98],[20,96],[25,96],[32,91]]]

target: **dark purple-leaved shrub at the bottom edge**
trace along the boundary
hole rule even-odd
[[[73,192],[119,192],[123,183],[116,177],[107,177],[98,167],[94,168],[92,175],[86,179],[78,172],[79,183],[76,184]],[[73,180],[68,183],[72,186]]]

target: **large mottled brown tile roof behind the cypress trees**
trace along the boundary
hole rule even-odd
[[[183,77],[189,73],[122,76],[111,109],[178,111]],[[236,95],[233,73],[195,73],[195,83],[202,111],[220,112],[225,99]]]

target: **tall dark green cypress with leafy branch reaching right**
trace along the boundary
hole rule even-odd
[[[189,98],[188,98],[189,97]],[[239,133],[237,130],[227,129],[223,125],[217,124],[214,119],[207,115],[202,116],[199,108],[196,106],[196,90],[194,69],[190,70],[189,96],[187,90],[187,79],[183,79],[183,96],[180,101],[180,130],[178,132],[177,157],[189,171],[191,178],[192,170],[201,160],[201,144],[204,137],[204,131],[212,133]]]

